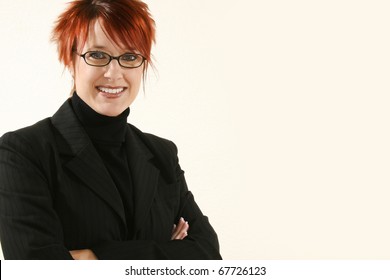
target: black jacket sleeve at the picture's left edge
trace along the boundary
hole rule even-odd
[[[72,259],[63,246],[38,151],[17,133],[0,138],[0,239],[5,259]],[[41,151],[42,152],[42,151]]]

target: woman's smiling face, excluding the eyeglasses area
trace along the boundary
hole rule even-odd
[[[111,56],[131,52],[115,45],[104,33],[99,21],[91,25],[88,39],[80,54],[87,51],[103,51]],[[136,98],[142,79],[143,65],[123,68],[117,60],[103,67],[90,66],[78,55],[69,68],[75,82],[77,95],[92,109],[102,115],[118,116]]]

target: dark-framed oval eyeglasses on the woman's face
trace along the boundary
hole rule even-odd
[[[101,51],[89,51],[84,54],[75,53],[84,58],[85,63],[96,67],[106,66],[110,64],[111,60],[115,59],[124,68],[138,68],[145,61],[145,57],[136,53],[125,53],[120,56],[111,56]]]

